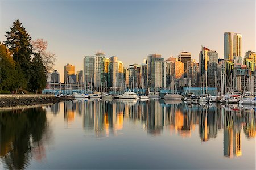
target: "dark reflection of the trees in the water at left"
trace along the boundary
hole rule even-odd
[[[46,111],[40,108],[0,113],[0,158],[5,168],[22,169],[46,158],[45,144],[51,138]]]

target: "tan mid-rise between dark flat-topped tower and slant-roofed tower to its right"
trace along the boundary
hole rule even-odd
[[[199,73],[199,63],[196,63],[195,59],[191,59],[188,61],[188,81],[191,80],[191,86],[197,87],[199,83],[197,81],[198,73]]]

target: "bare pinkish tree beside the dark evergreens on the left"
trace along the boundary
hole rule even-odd
[[[46,51],[48,42],[44,39],[36,39],[35,41],[32,41],[32,46],[34,54],[39,54],[42,57],[46,72],[49,73],[49,71],[52,71],[56,61],[56,54]]]

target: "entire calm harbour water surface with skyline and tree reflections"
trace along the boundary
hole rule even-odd
[[[255,169],[255,112],[233,105],[74,100],[0,122],[1,169]]]

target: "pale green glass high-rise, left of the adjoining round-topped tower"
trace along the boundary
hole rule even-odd
[[[93,88],[94,86],[94,67],[95,67],[95,57],[85,56],[84,57],[84,84],[86,85],[86,87],[88,86]]]

